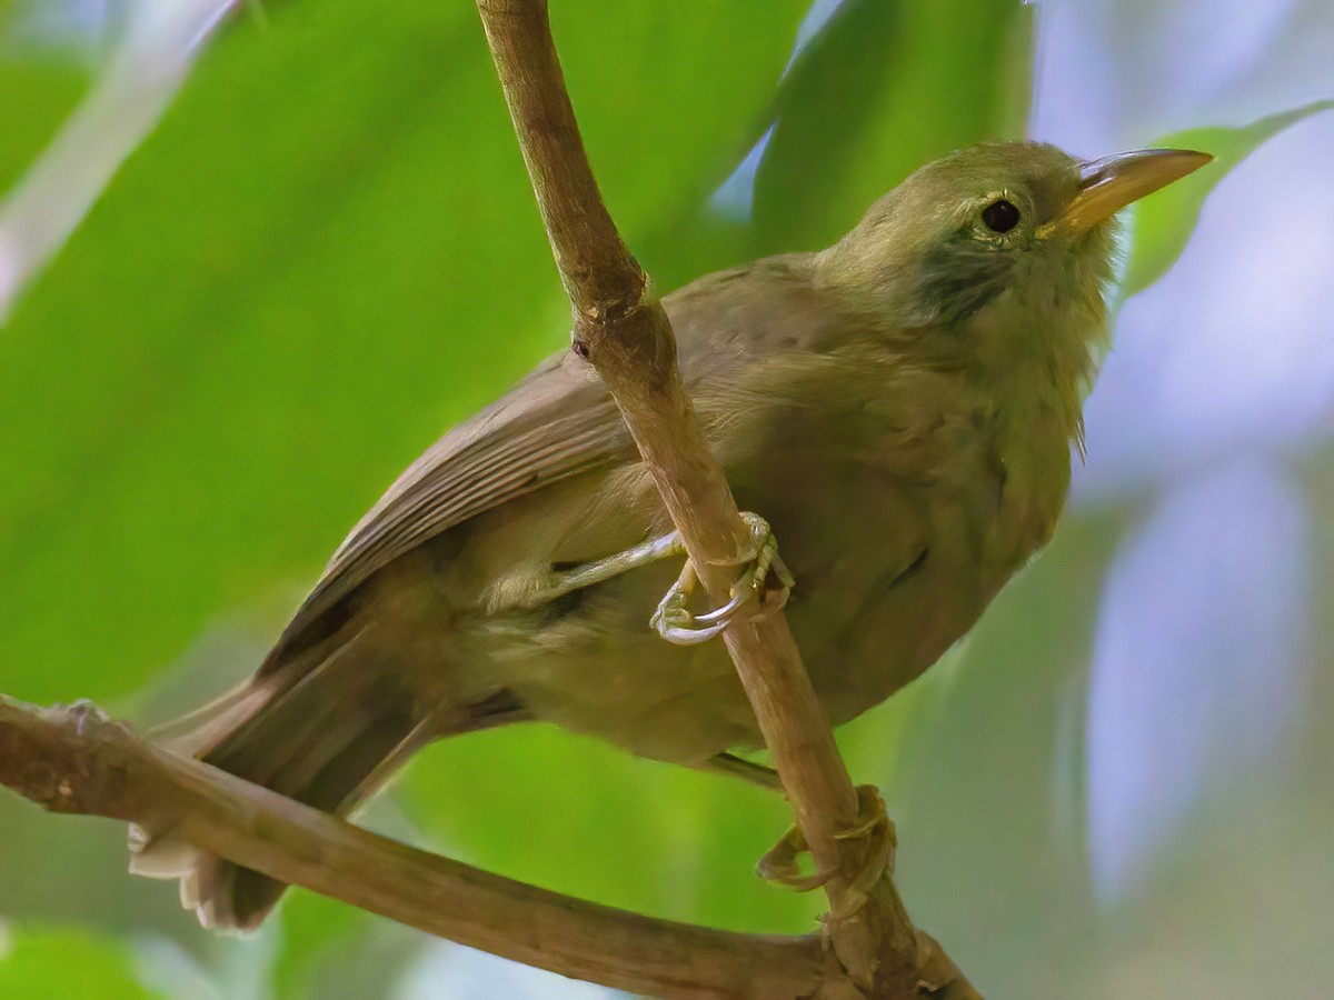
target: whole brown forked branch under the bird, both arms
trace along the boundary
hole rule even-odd
[[[748,535],[695,423],[671,327],[607,215],[579,140],[546,0],[478,0],[574,308],[575,351],[606,381],[719,600]],[[822,871],[820,937],[738,935],[575,900],[362,831],[136,739],[91,705],[0,696],[0,784],[55,812],[172,831],[211,853],[432,935],[604,985],[680,997],[938,997],[978,993],[907,919],[887,869],[848,907],[864,844],[840,839],[858,799],[782,616],[724,636]]]

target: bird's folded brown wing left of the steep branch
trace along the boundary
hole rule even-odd
[[[550,359],[399,476],[334,553],[261,672],[359,584],[427,539],[632,453],[630,433],[591,368],[568,353]]]

